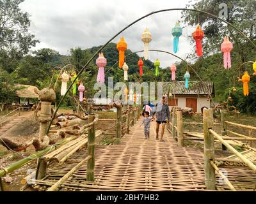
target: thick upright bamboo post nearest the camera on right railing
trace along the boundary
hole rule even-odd
[[[214,161],[214,136],[209,133],[213,127],[212,109],[204,110],[204,166],[205,166],[205,187],[215,190],[215,169],[211,165]]]

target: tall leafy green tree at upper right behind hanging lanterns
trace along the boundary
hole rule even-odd
[[[220,11],[219,5],[221,3],[226,3],[228,6],[228,18],[225,20],[243,31],[251,41],[256,43],[255,1],[201,0],[193,4],[190,2],[186,7],[207,11],[218,16]],[[212,18],[209,15],[184,11],[183,18],[184,23],[193,26],[199,23],[204,30],[203,57],[196,59],[195,54],[191,54],[189,55],[189,59],[195,59],[193,68],[202,80],[214,82],[216,91],[215,101],[227,101],[227,92],[235,86],[237,92],[233,94],[234,101],[232,105],[235,105],[241,112],[255,113],[253,112],[253,108],[256,108],[256,103],[251,99],[255,95],[255,89],[250,88],[250,95],[244,97],[243,92],[241,92],[242,83],[237,83],[237,77],[239,74],[243,75],[246,69],[252,74],[251,65],[243,66],[241,70],[237,70],[237,68],[245,61],[255,60],[256,48],[253,47],[248,39],[238,33],[236,29],[230,25],[223,24],[220,20]],[[232,68],[229,70],[223,68],[223,54],[220,50],[224,36],[228,36],[234,46],[231,52]],[[192,38],[191,43],[195,43]],[[194,76],[195,73],[191,73],[191,78],[196,78]],[[256,86],[254,78],[253,76],[251,77],[250,87]]]

